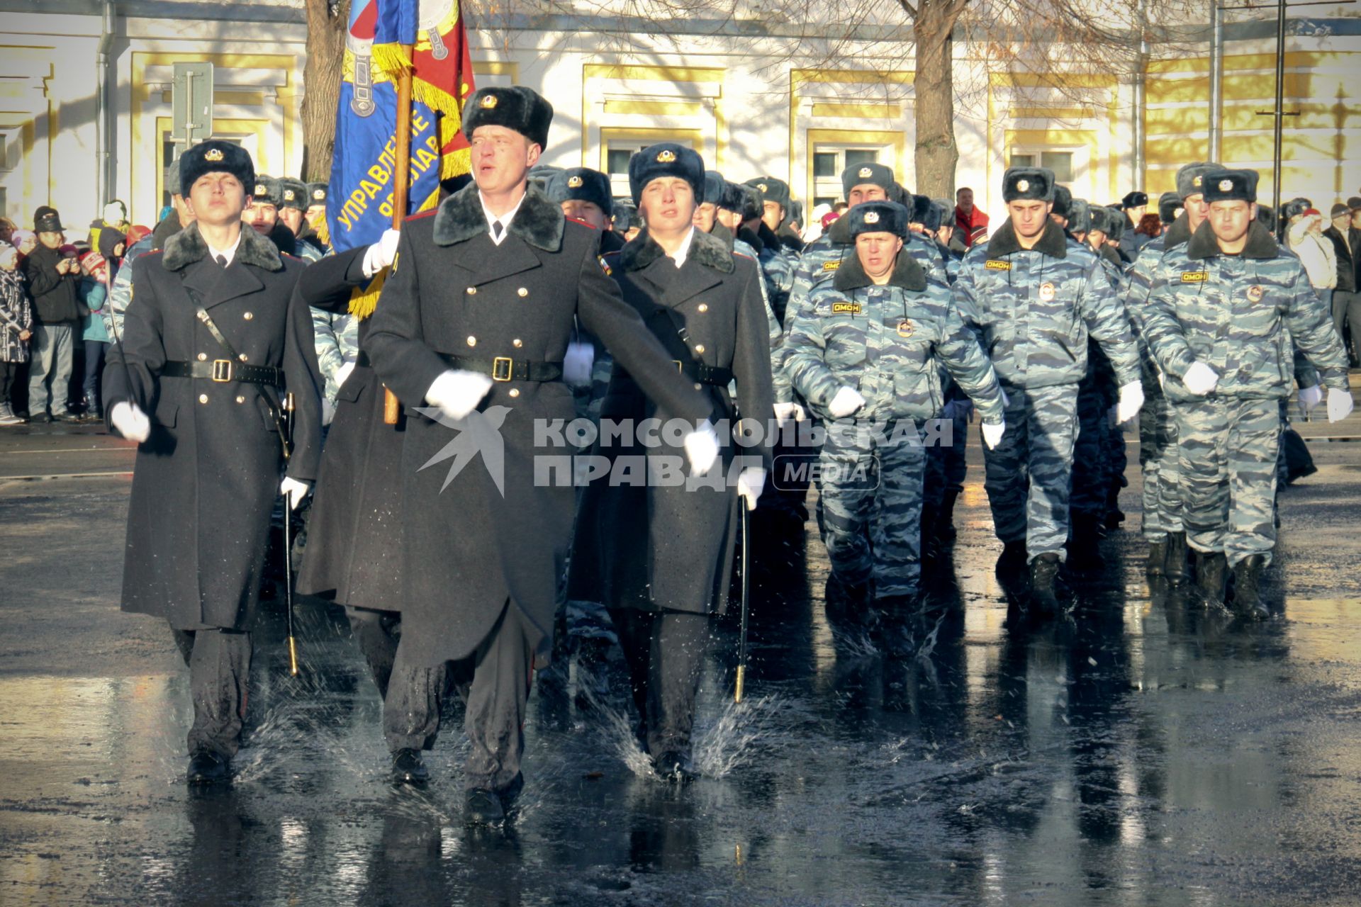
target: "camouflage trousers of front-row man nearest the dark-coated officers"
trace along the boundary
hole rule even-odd
[[[872,578],[875,598],[917,593],[925,462],[912,422],[827,424],[818,457],[822,544],[838,579]]]

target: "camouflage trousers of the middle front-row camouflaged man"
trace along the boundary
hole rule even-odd
[[[996,449],[983,447],[992,525],[1002,541],[1026,543],[1026,553],[1067,558],[1072,446],[1078,435],[1078,386],[1007,388],[1007,430]]]

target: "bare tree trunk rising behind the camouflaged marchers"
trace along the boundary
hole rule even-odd
[[[954,30],[955,15],[939,0],[923,0],[913,20],[916,75],[913,105],[917,128],[913,192],[932,199],[954,199]]]

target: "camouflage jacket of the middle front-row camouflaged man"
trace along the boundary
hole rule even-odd
[[[1111,359],[1119,386],[1139,379],[1139,354],[1115,288],[1097,256],[1055,223],[1029,250],[1003,223],[964,257],[954,301],[1003,385],[1078,383],[1087,371],[1089,335]]]

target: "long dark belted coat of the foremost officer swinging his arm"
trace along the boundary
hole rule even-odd
[[[572,453],[551,442],[535,446],[536,422],[562,420],[561,427],[576,416],[568,385],[495,381],[480,415],[463,424],[480,419],[501,451],[485,450],[450,476],[450,461],[425,468],[467,434],[419,411],[440,374],[453,367],[490,374],[495,358],[519,363],[512,370],[561,363],[578,321],[667,412],[698,420],[712,408],[678,378],[672,356],[619,298],[600,261],[599,231],[569,222],[534,186],[506,231],[493,243],[475,185],[445,199],[433,216],[408,219],[367,337],[380,379],[407,407],[403,646],[419,664],[472,653],[508,600],[538,631],[532,643],[551,632],[576,503],[570,479],[536,479],[536,460]],[[499,488],[491,461],[504,469]]]

